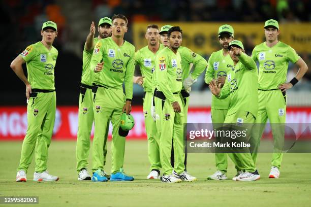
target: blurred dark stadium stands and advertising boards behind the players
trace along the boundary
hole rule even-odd
[[[2,79],[0,92],[0,140],[22,140],[26,132],[25,86],[10,68],[11,61],[28,45],[41,41],[42,23],[57,23],[58,49],[55,68],[57,112],[53,139],[76,139],[79,84],[82,72],[82,50],[89,25],[102,17],[124,14],[129,19],[125,39],[136,50],[146,45],[144,33],[150,23],[179,25],[183,46],[208,60],[220,49],[217,29],[231,24],[235,38],[241,40],[247,54],[264,41],[264,21],[274,18],[280,23],[279,40],[292,46],[307,63],[304,78],[288,91],[287,122],[311,123],[311,1],[294,0],[172,0],[172,1],[61,1],[2,0],[1,44]],[[96,36],[98,33],[96,33]],[[24,66],[25,69],[25,66]],[[291,64],[288,80],[298,68]],[[204,72],[205,74],[205,72]],[[210,122],[211,93],[204,83],[204,74],[193,86],[188,122]],[[136,125],[129,138],[145,139],[142,112],[143,90],[134,85],[133,115]]]

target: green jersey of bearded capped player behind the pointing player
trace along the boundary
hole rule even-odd
[[[230,54],[224,56],[223,49],[213,52],[209,59],[205,73],[205,83],[209,84],[211,80],[217,79],[217,77],[226,76],[234,66],[233,60]],[[220,100],[215,96],[212,96],[212,109],[228,109],[230,104],[230,96]]]

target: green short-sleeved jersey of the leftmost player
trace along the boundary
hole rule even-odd
[[[54,70],[58,51],[48,50],[42,42],[29,45],[20,56],[25,60],[28,82],[35,89],[55,90]]]

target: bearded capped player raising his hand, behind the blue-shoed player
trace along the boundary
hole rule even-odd
[[[83,65],[82,65],[82,78],[80,86],[80,97],[79,97],[79,122],[78,122],[78,134],[77,134],[77,147],[76,147],[76,159],[77,159],[77,171],[78,180],[91,180],[90,175],[87,171],[87,159],[89,154],[90,146],[90,133],[94,121],[93,113],[93,99],[92,99],[92,76],[94,72],[89,70],[90,60],[92,58],[94,46],[101,40],[111,36],[111,19],[108,17],[101,18],[98,23],[98,37],[94,38],[95,25],[94,22],[90,25],[90,31],[86,38],[86,42],[83,48]],[[109,127],[109,120],[107,122]],[[106,164],[107,155],[107,137],[108,130],[105,134],[104,140],[104,166]],[[105,174],[106,172],[103,171]],[[110,176],[106,174],[109,179]]]

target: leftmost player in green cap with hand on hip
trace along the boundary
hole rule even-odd
[[[57,37],[57,25],[47,21],[42,25],[42,41],[29,45],[11,63],[15,74],[26,85],[28,126],[23,141],[16,181],[26,181],[26,173],[36,147],[34,181],[57,181],[47,171],[48,148],[51,144],[56,111],[54,70],[58,51],[52,46]],[[23,72],[26,63],[28,77]],[[37,144],[36,144],[37,141]]]

